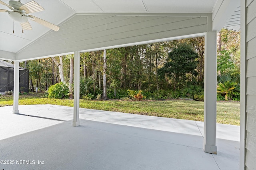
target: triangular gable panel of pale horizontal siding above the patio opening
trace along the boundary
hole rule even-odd
[[[18,53],[42,57],[207,31],[207,17],[77,15]]]

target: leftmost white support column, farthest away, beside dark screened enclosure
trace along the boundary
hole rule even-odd
[[[13,114],[19,113],[19,82],[20,82],[20,62],[14,61],[14,82],[13,82]]]

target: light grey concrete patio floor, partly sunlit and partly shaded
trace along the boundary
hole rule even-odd
[[[239,169],[239,126],[217,124],[208,154],[199,121],[80,109],[72,127],[73,107],[12,109],[0,107],[0,170]]]

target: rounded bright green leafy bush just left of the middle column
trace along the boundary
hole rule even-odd
[[[68,84],[60,82],[56,83],[48,88],[48,98],[68,98],[69,89]]]

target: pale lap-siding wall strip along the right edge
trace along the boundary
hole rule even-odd
[[[256,0],[247,0],[247,103],[245,166],[256,168]]]

